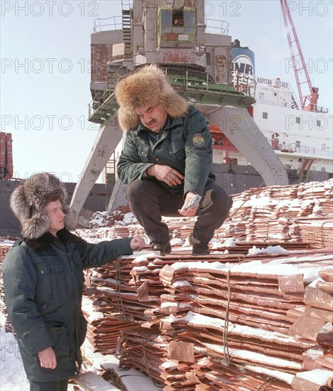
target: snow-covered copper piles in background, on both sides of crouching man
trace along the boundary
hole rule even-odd
[[[246,242],[269,244],[310,244],[333,247],[333,179],[326,182],[301,183],[293,186],[251,188],[232,196],[234,205],[229,219],[215,231],[214,250],[225,250],[227,238],[238,245]],[[143,229],[127,206],[111,212],[97,212],[90,221],[90,231],[81,231],[87,240],[143,235]],[[123,220],[121,220],[121,218]],[[163,218],[170,237],[190,235],[195,218]],[[219,246],[220,245],[220,246]]]

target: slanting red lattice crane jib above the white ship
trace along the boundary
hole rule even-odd
[[[312,87],[310,76],[302,54],[302,49],[300,48],[300,41],[298,41],[293,19],[290,15],[288,2],[287,0],[280,0],[280,4],[283,20],[285,21],[285,30],[287,31],[288,43],[296,77],[297,90],[300,97],[300,104],[302,105],[302,109],[315,112],[317,111],[318,88]],[[305,92],[306,85],[308,92],[310,93]]]

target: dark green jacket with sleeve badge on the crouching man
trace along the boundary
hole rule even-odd
[[[174,193],[195,191],[202,195],[206,183],[215,180],[211,172],[212,136],[203,115],[191,106],[186,117],[168,117],[153,148],[148,132],[140,124],[127,133],[117,166],[121,181],[129,184],[143,179],[148,167],[165,164],[180,172],[185,180],[178,186],[168,186],[154,178],[155,181]]]

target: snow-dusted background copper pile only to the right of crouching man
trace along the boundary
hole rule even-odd
[[[245,240],[332,246],[333,179],[293,186],[251,188],[234,195],[230,218],[246,225]],[[222,226],[228,230],[229,220]],[[315,225],[315,228],[314,228]]]

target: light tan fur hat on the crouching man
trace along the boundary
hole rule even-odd
[[[136,109],[163,107],[170,117],[185,117],[188,102],[169,84],[163,70],[157,65],[146,65],[121,79],[116,85],[116,100],[119,103],[118,119],[121,129],[138,127]]]

